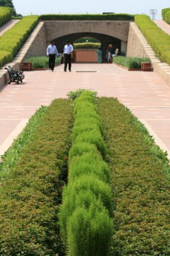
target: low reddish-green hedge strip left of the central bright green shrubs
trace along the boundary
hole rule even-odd
[[[65,255],[58,204],[67,179],[73,106],[54,100],[34,141],[1,183],[0,255]]]

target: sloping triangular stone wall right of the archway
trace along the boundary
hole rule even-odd
[[[134,22],[130,22],[129,34],[128,34],[128,46],[126,51],[127,57],[148,57],[144,49],[144,45],[141,42],[141,32],[138,33],[138,28]]]

